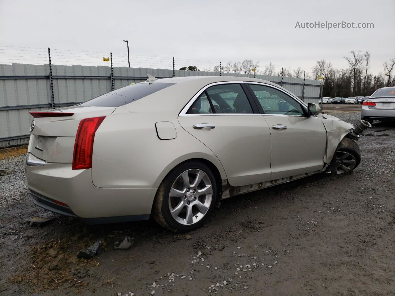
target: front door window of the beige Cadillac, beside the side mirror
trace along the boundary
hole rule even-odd
[[[301,105],[292,97],[269,86],[249,84],[265,114],[303,115]]]

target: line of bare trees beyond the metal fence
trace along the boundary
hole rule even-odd
[[[395,86],[395,56],[383,63],[383,71],[376,75],[370,71],[371,53],[369,51],[350,51],[348,56],[343,56],[347,61],[346,69],[336,69],[331,62],[318,60],[311,68],[311,73],[302,67],[296,69],[277,69],[272,62],[265,65],[263,69],[258,68],[259,61],[245,59],[243,62],[229,61],[221,65],[223,73],[236,74],[256,74],[284,77],[295,77],[306,79],[324,79],[322,91],[323,97],[349,97],[349,96],[370,96],[375,90],[384,86]],[[196,66],[182,67],[180,70],[200,71]],[[219,72],[220,66],[203,68],[202,71]],[[281,73],[282,71],[282,73]]]

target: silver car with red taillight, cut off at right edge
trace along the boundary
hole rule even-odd
[[[395,121],[395,87],[383,87],[363,101],[361,118],[372,123],[374,120]]]

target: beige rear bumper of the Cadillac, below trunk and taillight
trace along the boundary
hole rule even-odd
[[[87,223],[113,223],[148,219],[156,188],[99,188],[92,170],[71,170],[71,164],[26,165],[33,202],[58,214]],[[68,205],[62,206],[54,201]]]

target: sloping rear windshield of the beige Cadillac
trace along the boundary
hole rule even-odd
[[[164,88],[173,85],[174,83],[137,83],[128,85],[102,96],[95,97],[79,106],[83,107],[119,107],[132,103],[138,99],[146,97],[154,92],[163,90]]]

